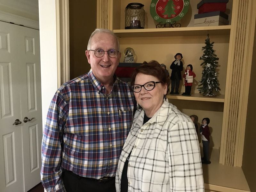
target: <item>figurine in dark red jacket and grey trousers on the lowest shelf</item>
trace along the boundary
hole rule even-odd
[[[204,152],[204,157],[202,157],[202,164],[210,164],[211,161],[209,160],[209,151],[210,151],[210,129],[208,124],[210,123],[209,118],[203,118],[202,120],[202,125],[200,126],[200,135],[202,138],[202,143],[203,143],[203,152]]]

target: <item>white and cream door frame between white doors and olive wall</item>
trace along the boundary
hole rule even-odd
[[[61,2],[62,4],[60,4]],[[44,124],[52,96],[60,87],[61,82],[69,80],[69,51],[67,51],[69,50],[69,7],[68,0],[38,0],[38,7],[40,24],[42,116]],[[61,27],[60,23],[63,24]],[[65,36],[63,35],[64,37],[61,36],[61,31],[62,34],[65,34]],[[66,50],[62,53],[62,55],[65,56],[63,59],[65,63],[61,65],[60,52],[63,47]],[[67,55],[68,58],[66,59]],[[63,66],[63,70],[60,70],[61,66]],[[61,77],[61,73],[68,75]]]

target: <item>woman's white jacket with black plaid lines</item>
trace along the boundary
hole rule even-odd
[[[192,120],[165,100],[143,125],[144,111],[135,113],[116,172],[120,191],[124,163],[129,156],[129,192],[204,191],[200,148]]]

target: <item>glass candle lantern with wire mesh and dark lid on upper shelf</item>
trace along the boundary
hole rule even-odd
[[[144,29],[145,10],[141,3],[129,3],[125,8],[125,29]]]

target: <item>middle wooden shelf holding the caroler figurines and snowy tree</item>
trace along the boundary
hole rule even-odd
[[[167,94],[168,99],[179,99],[179,100],[194,100],[194,101],[210,101],[210,102],[221,102],[224,103],[225,95],[218,95],[216,97],[205,97],[200,93],[191,93],[191,96],[183,95],[170,95]]]

